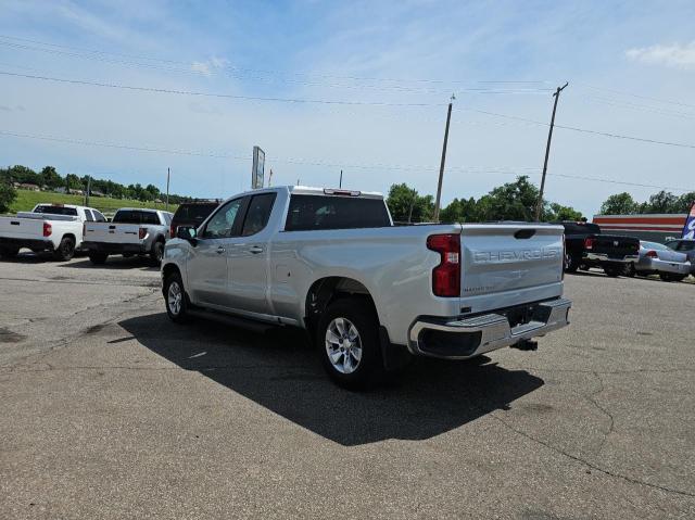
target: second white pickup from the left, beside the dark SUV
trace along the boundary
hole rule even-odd
[[[109,255],[150,255],[159,265],[164,242],[169,238],[172,214],[157,210],[123,207],[111,223],[87,223],[84,246],[92,264],[101,265]]]

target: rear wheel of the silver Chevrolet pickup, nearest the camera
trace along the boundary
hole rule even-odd
[[[340,332],[342,338],[330,342],[329,329],[334,338]],[[357,337],[350,341],[350,331]],[[363,297],[345,297],[336,300],[323,314],[316,329],[316,344],[321,363],[328,376],[340,386],[350,390],[364,390],[383,380],[384,367],[379,344],[379,320],[370,304]],[[329,355],[333,353],[333,360]],[[359,352],[359,359],[355,353]],[[341,363],[342,362],[342,363]],[[355,363],[356,362],[356,363]]]

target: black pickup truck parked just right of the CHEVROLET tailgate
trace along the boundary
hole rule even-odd
[[[565,227],[565,268],[574,272],[579,268],[601,267],[615,277],[626,266],[640,259],[640,240],[632,237],[604,234],[596,224],[561,223]]]

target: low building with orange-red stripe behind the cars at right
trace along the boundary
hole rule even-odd
[[[605,233],[624,234],[640,240],[664,243],[680,239],[686,213],[656,215],[594,215],[593,223]]]

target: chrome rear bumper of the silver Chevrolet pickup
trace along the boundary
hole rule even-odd
[[[418,319],[408,332],[408,350],[415,355],[467,359],[566,327],[571,306],[565,299],[529,304],[531,319],[515,327],[503,312],[451,321]]]

